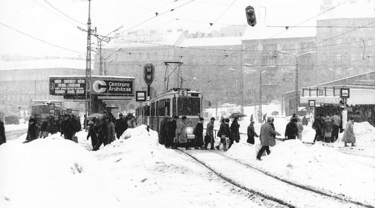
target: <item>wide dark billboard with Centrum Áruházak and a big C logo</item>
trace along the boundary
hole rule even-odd
[[[134,96],[134,77],[91,76],[91,94]],[[50,76],[49,94],[85,97],[85,76]]]

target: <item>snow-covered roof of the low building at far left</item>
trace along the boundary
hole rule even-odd
[[[86,69],[86,61],[85,60],[72,60],[72,59],[41,59],[41,60],[0,62],[0,70],[53,69],[53,68]]]

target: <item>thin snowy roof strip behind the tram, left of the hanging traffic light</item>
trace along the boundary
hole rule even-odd
[[[241,36],[234,37],[215,37],[215,38],[186,38],[179,47],[198,47],[198,46],[235,46],[241,45]]]

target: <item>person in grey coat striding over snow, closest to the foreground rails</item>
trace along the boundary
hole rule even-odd
[[[262,160],[261,156],[264,151],[266,151],[268,155],[271,153],[270,146],[273,145],[274,140],[275,140],[273,135],[281,136],[281,134],[279,134],[272,128],[271,126],[272,121],[273,121],[273,118],[268,117],[267,122],[262,124],[261,126],[261,138],[260,139],[261,139],[262,148],[259,150],[257,154],[257,160]]]

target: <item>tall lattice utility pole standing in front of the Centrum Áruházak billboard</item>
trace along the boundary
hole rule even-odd
[[[85,100],[85,115],[88,118],[89,111],[91,113],[91,93],[90,93],[90,82],[91,82],[91,19],[90,19],[90,8],[91,0],[89,0],[89,18],[87,20],[87,50],[86,50],[86,100]],[[90,110],[89,110],[90,109]],[[87,122],[85,123],[85,129]]]

